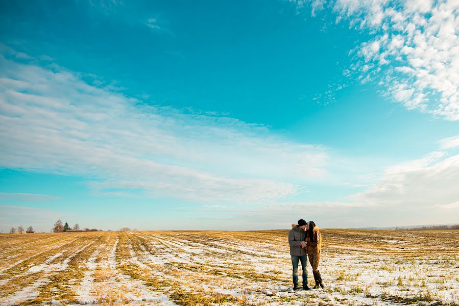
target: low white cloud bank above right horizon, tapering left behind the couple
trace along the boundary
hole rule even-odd
[[[440,141],[441,150],[422,158],[391,165],[381,175],[363,177],[372,182],[366,184],[364,191],[337,201],[278,200],[264,207],[238,210],[225,207],[218,211],[235,214],[238,220],[251,220],[256,216],[267,227],[269,222],[287,224],[300,216],[319,220],[327,227],[456,222],[459,218],[459,155],[454,154],[454,150],[458,137]]]

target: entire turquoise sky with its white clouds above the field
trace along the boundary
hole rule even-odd
[[[1,231],[453,223],[459,6],[0,2]]]

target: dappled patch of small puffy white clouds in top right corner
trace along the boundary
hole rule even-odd
[[[323,8],[314,3],[313,12]],[[372,34],[351,50],[353,63],[346,75],[379,84],[383,95],[409,110],[459,120],[457,1],[336,0],[328,7],[337,22],[347,20],[352,28]],[[325,98],[330,100],[327,93]]]

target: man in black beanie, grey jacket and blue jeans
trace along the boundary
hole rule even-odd
[[[301,261],[303,269],[303,289],[309,290],[307,287],[307,271],[306,271],[306,221],[298,220],[298,224],[292,224],[292,230],[288,233],[288,244],[290,245],[290,255],[292,256],[293,266],[293,290],[298,290],[298,263]]]

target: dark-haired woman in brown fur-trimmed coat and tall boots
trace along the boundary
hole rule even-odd
[[[312,273],[314,274],[314,280],[316,281],[316,286],[314,289],[318,289],[319,286],[324,288],[322,284],[322,277],[319,272],[319,261],[320,261],[320,247],[322,244],[322,237],[319,232],[319,227],[316,226],[314,221],[308,221],[306,223],[306,250],[309,262],[312,266]]]

